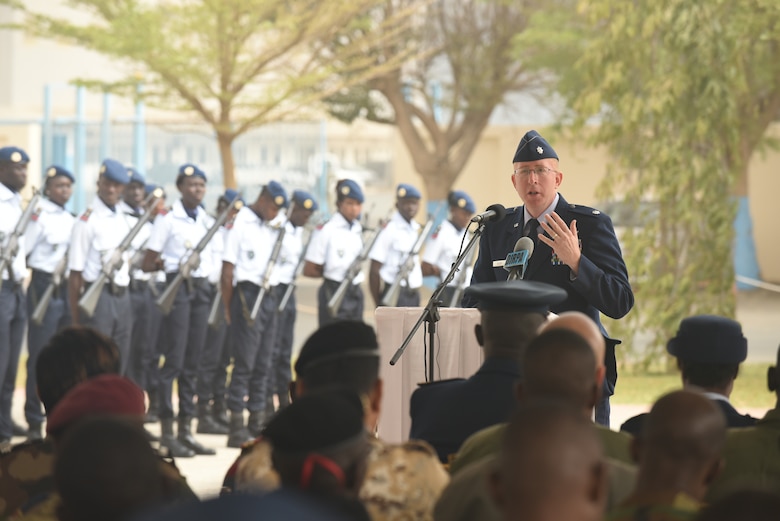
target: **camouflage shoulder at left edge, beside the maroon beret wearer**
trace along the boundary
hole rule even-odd
[[[0,519],[54,488],[53,453],[49,440],[37,440],[0,454]]]

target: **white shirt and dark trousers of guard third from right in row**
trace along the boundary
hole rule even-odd
[[[363,227],[358,221],[349,222],[340,212],[319,226],[306,250],[306,261],[322,266],[323,281],[317,291],[317,317],[319,327],[336,320],[363,320],[365,296],[361,283],[365,273],[360,273],[344,295],[335,317],[328,312],[328,302],[333,297],[347,270],[363,251]]]

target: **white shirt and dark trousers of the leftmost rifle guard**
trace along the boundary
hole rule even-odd
[[[21,195],[0,183],[0,247],[7,246],[21,216]],[[0,288],[0,442],[10,440],[13,434],[11,398],[16,386],[19,352],[27,323],[26,299],[22,288],[22,281],[27,274],[24,252],[22,236],[13,262],[8,269],[3,270],[3,286]],[[10,279],[9,271],[12,274]]]

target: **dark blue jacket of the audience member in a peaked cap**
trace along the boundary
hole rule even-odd
[[[475,432],[508,420],[517,407],[518,363],[487,358],[468,380],[443,380],[421,385],[412,393],[410,439],[425,440],[443,463]]]

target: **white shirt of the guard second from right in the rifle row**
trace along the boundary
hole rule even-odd
[[[379,277],[385,283],[387,289],[395,280],[395,276],[406,260],[409,252],[412,251],[414,243],[420,234],[420,223],[415,220],[406,222],[401,214],[396,211],[385,229],[379,234],[379,238],[374,247],[371,248],[369,258],[382,263],[379,270]],[[409,272],[406,280],[401,281],[401,287],[407,290],[416,290],[422,286],[422,268],[420,266],[420,256],[414,256],[414,267]]]

